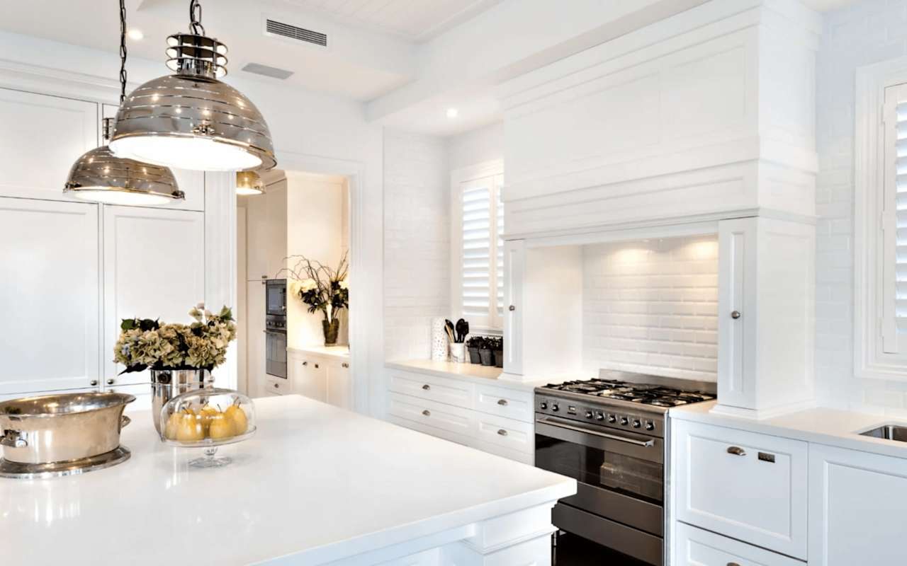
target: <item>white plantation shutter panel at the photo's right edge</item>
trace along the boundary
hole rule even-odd
[[[883,351],[907,352],[907,85],[885,89]]]

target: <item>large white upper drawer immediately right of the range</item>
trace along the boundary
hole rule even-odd
[[[807,444],[672,421],[676,517],[806,558]]]

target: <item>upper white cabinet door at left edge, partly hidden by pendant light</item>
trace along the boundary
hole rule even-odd
[[[76,200],[63,185],[75,160],[98,146],[98,104],[0,89],[0,124],[0,196]]]

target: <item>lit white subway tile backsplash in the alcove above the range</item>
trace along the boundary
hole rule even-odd
[[[716,236],[583,248],[583,366],[717,379]]]

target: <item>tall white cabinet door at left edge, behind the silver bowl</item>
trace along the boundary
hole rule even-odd
[[[98,384],[98,246],[97,205],[0,197],[0,395]]]

